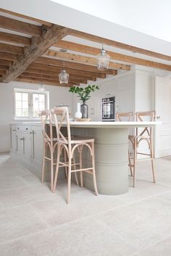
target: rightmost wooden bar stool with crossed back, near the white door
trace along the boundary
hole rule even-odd
[[[136,121],[154,121],[156,115],[156,111],[148,111],[148,112],[136,112]],[[136,128],[136,134],[130,135],[129,139],[133,145],[133,162],[130,165],[133,168],[133,187],[135,187],[135,167],[137,162],[137,155],[143,154],[149,156],[151,159],[151,168],[153,174],[153,181],[156,182],[155,172],[154,172],[154,128],[153,127],[145,127],[145,128]],[[149,154],[138,152],[138,146],[142,141],[146,141],[149,146]],[[144,159],[146,160],[146,159]]]

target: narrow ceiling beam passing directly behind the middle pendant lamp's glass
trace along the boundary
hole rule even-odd
[[[60,73],[60,72],[59,72]],[[32,77],[32,78],[45,78],[45,79],[59,79],[59,73],[55,73],[53,75],[47,75],[47,74],[43,74],[43,73],[29,73],[29,72],[23,72],[22,75],[28,76],[28,77]],[[90,75],[71,75],[70,74],[70,79],[81,79],[81,80],[92,80],[92,81],[96,81],[96,78]]]

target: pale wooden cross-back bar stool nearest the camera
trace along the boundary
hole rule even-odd
[[[51,111],[54,123],[57,129],[57,168],[54,177],[54,189],[55,192],[57,187],[57,177],[59,167],[68,168],[68,178],[67,178],[67,203],[70,202],[70,185],[71,185],[71,173],[80,172],[80,184],[83,187],[83,171],[86,173],[90,173],[93,176],[93,186],[96,195],[98,195],[97,186],[96,186],[96,173],[95,173],[95,161],[94,161],[94,139],[80,139],[79,137],[75,137],[71,139],[70,135],[70,119],[67,107],[56,107]],[[65,121],[65,125],[67,125],[67,136],[64,136],[62,131],[62,124]],[[62,146],[65,148],[67,152],[68,162],[61,162],[61,149]],[[87,146],[91,153],[92,158],[92,166],[90,168],[83,168],[82,166],[82,150],[83,146]],[[72,164],[72,159],[74,157],[75,149],[78,149],[79,154],[79,162]],[[76,169],[79,167],[79,169]],[[72,168],[74,167],[74,169]]]

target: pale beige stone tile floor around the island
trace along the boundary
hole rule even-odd
[[[56,194],[8,154],[0,154],[0,255],[171,256],[171,157],[138,163],[135,189],[96,197],[66,181]]]

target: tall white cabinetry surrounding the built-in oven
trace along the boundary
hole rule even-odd
[[[91,94],[88,104],[89,115],[92,120],[101,120],[101,100],[115,96],[116,112],[134,111],[135,108],[135,70],[130,70],[119,75],[114,75],[105,80],[96,81],[99,91]]]

